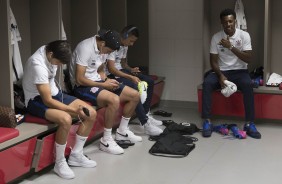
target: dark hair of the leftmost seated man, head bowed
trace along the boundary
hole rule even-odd
[[[47,52],[53,52],[53,57],[67,64],[71,60],[71,46],[66,40],[56,40],[46,45]]]

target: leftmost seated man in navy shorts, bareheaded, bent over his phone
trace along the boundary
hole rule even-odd
[[[54,171],[65,179],[74,178],[65,159],[65,148],[72,117],[83,120],[76,134],[76,143],[68,163],[71,166],[95,167],[96,162],[83,155],[83,146],[90,133],[96,111],[85,102],[64,94],[55,83],[57,66],[69,63],[71,48],[66,41],[53,41],[40,47],[26,62],[23,90],[27,111],[58,124],[55,138],[56,161]],[[83,108],[88,109],[88,116]],[[87,110],[86,110],[87,111]]]

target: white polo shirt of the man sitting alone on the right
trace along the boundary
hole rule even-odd
[[[227,38],[222,30],[216,33],[211,40],[210,53],[218,54],[218,64],[221,71],[247,69],[248,64],[239,59],[231,50],[219,45],[221,39]],[[252,50],[251,37],[248,32],[236,29],[235,34],[229,37],[231,44],[240,51]]]

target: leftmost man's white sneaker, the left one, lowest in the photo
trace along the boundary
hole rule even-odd
[[[66,159],[55,163],[54,172],[64,179],[73,179],[75,177]]]

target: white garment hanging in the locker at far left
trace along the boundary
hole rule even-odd
[[[21,54],[20,49],[18,45],[18,41],[21,41],[21,35],[19,32],[18,24],[15,19],[15,16],[13,14],[12,9],[10,8],[10,30],[11,30],[11,44],[12,44],[12,61],[14,64],[14,70],[16,70],[13,73],[13,81],[16,82],[17,79],[21,79],[23,77],[23,65],[21,60]],[[17,75],[17,76],[16,76]]]

